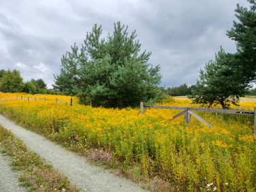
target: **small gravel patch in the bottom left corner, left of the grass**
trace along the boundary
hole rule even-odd
[[[11,163],[12,161],[8,157],[4,157],[0,153],[0,191],[25,191],[18,185],[18,174],[17,172],[12,172]]]

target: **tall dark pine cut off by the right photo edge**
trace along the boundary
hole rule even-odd
[[[232,66],[236,77],[247,83],[256,78],[256,3],[249,0],[251,7],[237,5],[234,27],[227,31],[227,36],[236,41],[238,54],[237,62]]]

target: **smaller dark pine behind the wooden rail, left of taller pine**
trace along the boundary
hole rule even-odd
[[[200,70],[200,80],[192,89],[189,96],[193,103],[229,108],[230,103],[237,104],[239,97],[244,96],[248,84],[236,79],[236,71],[232,69],[236,62],[234,54],[227,54],[221,48],[216,54],[215,61],[210,61]]]

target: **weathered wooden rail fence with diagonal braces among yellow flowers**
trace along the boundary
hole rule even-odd
[[[256,133],[256,107],[254,111],[246,111],[246,110],[217,110],[217,109],[206,109],[206,108],[182,108],[182,107],[171,107],[171,106],[147,106],[144,105],[143,102],[140,102],[140,113],[143,114],[146,112],[146,108],[155,108],[155,109],[166,109],[166,110],[183,110],[182,112],[176,114],[172,117],[172,119],[177,118],[178,116],[184,115],[186,123],[190,123],[191,115],[195,117],[198,121],[206,124],[209,128],[212,127],[209,123],[204,121],[201,117],[197,114],[193,113],[192,111],[197,112],[214,112],[220,114],[243,114],[243,115],[252,115],[253,116],[253,135]],[[144,110],[145,109],[145,110]]]

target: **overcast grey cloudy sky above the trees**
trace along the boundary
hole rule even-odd
[[[220,46],[236,52],[226,32],[237,3],[249,7],[246,0],[0,0],[0,69],[18,69],[25,81],[42,78],[51,88],[74,42],[82,44],[95,23],[106,35],[121,21],[161,66],[161,86],[195,84]]]

